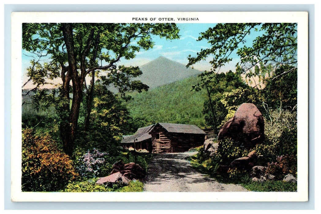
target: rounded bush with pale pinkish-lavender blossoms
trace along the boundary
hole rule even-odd
[[[88,150],[79,160],[76,169],[80,175],[85,178],[98,177],[101,173],[101,167],[106,163],[105,155],[107,152],[100,152],[94,148]]]

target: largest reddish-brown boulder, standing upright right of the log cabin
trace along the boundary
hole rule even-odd
[[[253,103],[243,103],[221,128],[218,140],[231,138],[252,148],[264,140],[264,118]]]

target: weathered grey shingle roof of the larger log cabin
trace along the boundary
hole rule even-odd
[[[195,125],[175,124],[175,123],[157,123],[157,124],[165,128],[168,132],[206,135],[206,133],[202,129],[198,128]]]

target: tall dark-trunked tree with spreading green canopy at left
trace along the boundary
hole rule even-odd
[[[152,34],[175,39],[178,38],[178,28],[170,23],[22,25],[22,48],[35,54],[38,59],[46,58],[45,63],[31,61],[29,80],[33,81],[36,88],[44,85],[46,79],[62,80],[60,101],[56,108],[61,120],[60,135],[67,154],[71,155],[74,148],[85,77],[91,75],[94,80],[98,72],[117,72],[116,63],[120,59],[132,59],[136,52],[152,48]],[[69,93],[72,93],[71,107]]]

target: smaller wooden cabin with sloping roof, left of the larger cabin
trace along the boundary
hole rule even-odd
[[[121,141],[123,148],[146,149],[152,152],[152,136],[149,134],[154,125],[138,128],[134,135],[125,135]]]

